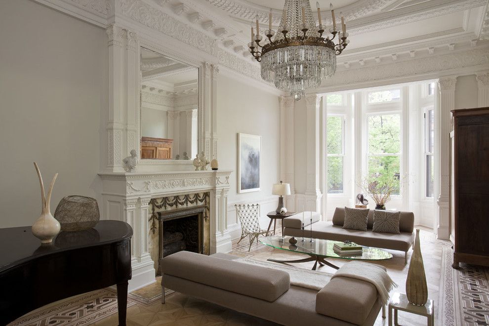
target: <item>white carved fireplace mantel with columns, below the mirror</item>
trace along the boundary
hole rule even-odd
[[[152,198],[208,192],[210,196],[210,253],[231,251],[227,230],[227,196],[231,170],[100,173],[102,214],[131,225],[132,280],[129,290],[155,282],[149,254]]]

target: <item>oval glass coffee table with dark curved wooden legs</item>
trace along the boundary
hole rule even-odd
[[[373,247],[362,246],[362,252],[358,253],[336,253],[333,250],[333,245],[335,243],[342,243],[341,241],[332,241],[332,240],[323,240],[323,239],[312,239],[304,238],[302,242],[302,238],[295,238],[297,240],[297,244],[293,245],[288,242],[288,240],[292,237],[280,237],[280,236],[272,236],[265,237],[260,240],[262,244],[269,245],[271,247],[292,251],[292,252],[300,252],[309,257],[304,259],[296,259],[296,260],[277,260],[277,259],[267,259],[269,261],[274,261],[277,263],[305,263],[308,261],[315,261],[313,266],[313,271],[316,270],[318,264],[321,266],[327,265],[334,269],[339,269],[338,266],[331,264],[326,261],[326,258],[340,258],[340,259],[352,259],[352,260],[385,260],[391,259],[392,254]]]

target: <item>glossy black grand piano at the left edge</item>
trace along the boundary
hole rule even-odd
[[[0,325],[45,304],[111,285],[117,285],[119,325],[125,325],[131,237],[129,224],[112,220],[61,232],[47,245],[30,226],[0,229]]]

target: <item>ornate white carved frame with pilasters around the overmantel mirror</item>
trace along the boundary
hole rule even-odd
[[[122,160],[135,149],[140,155],[141,138],[141,47],[161,53],[199,69],[198,151],[209,159],[217,157],[216,77],[217,66],[189,57],[188,51],[162,40],[138,36],[128,29],[111,25],[106,30],[109,48],[109,99],[106,125],[107,153],[104,172],[124,172]],[[169,49],[171,48],[171,50]],[[136,172],[181,171],[193,169],[192,161],[139,160]]]

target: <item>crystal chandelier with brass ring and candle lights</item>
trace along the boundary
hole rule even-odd
[[[272,9],[264,41],[260,35],[258,15],[256,34],[251,27],[248,47],[256,61],[261,63],[261,77],[277,88],[290,92],[297,101],[305,95],[306,89],[316,88],[323,79],[334,75],[336,55],[350,42],[341,13],[341,32],[336,27],[332,4],[329,4],[333,20],[333,26],[329,29],[331,35],[323,36],[326,26],[322,23],[319,2],[316,2],[316,6],[318,26],[309,0],[285,0],[278,33],[272,30]],[[338,39],[335,44],[336,35]]]

